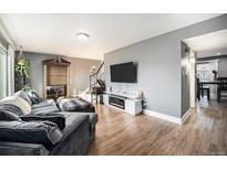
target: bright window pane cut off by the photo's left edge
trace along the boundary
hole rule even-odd
[[[7,96],[7,52],[0,47],[0,99]]]

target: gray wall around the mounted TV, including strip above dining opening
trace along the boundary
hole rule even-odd
[[[107,87],[134,92],[142,89],[147,99],[147,109],[180,118],[188,105],[182,91],[182,41],[184,39],[227,29],[227,14],[158,35],[104,54]],[[110,65],[136,62],[137,83],[111,83]]]

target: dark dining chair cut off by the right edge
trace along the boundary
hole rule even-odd
[[[217,82],[217,102],[220,103],[221,97],[226,97],[226,95],[223,94],[227,93],[227,77],[218,77]]]

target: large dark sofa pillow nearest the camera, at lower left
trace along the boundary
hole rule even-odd
[[[50,121],[0,121],[1,141],[41,144],[50,150],[61,138],[58,126]]]

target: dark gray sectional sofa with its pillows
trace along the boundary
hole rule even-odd
[[[21,91],[0,100],[1,156],[87,155],[95,135],[97,115],[68,111],[54,100],[32,103]]]

